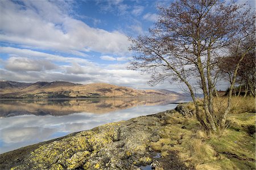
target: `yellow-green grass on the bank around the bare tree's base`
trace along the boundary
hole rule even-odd
[[[195,109],[192,103],[187,106]],[[226,98],[214,99],[215,111],[221,112],[225,106]],[[195,169],[255,169],[255,119],[255,98],[234,97],[229,126],[221,135],[205,132],[195,118],[176,115],[151,147],[163,157],[176,151]]]

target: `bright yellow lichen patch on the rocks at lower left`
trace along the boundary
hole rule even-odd
[[[30,162],[38,169],[49,169],[51,165],[57,166],[55,163],[60,163],[67,169],[75,169],[84,164],[86,156],[97,153],[113,142],[113,136],[112,125],[102,127],[101,132],[97,130],[81,132],[40,146],[31,152]]]

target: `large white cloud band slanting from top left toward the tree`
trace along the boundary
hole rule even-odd
[[[123,54],[129,42],[126,35],[89,27],[71,18],[53,2],[24,1],[25,6],[0,1],[0,40],[83,55],[83,52]],[[65,10],[65,9],[64,9]],[[39,11],[39,12],[38,12]]]

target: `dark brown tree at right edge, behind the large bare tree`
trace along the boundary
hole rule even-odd
[[[246,51],[249,47],[255,47],[255,35],[247,36],[243,45],[235,46],[232,45],[229,48],[230,56],[218,59],[218,68],[221,76],[228,80],[230,84],[232,84],[234,69],[241,58],[242,51]],[[238,95],[241,93],[241,89],[244,88],[245,96],[249,90],[250,95],[255,97],[255,48],[251,48],[246,52],[238,68],[236,82],[240,88]]]

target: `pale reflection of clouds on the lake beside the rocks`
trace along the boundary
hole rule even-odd
[[[0,154],[66,134],[89,130],[105,123],[127,120],[174,109],[176,104],[135,106],[105,114],[74,113],[61,116],[18,115],[0,119]]]

